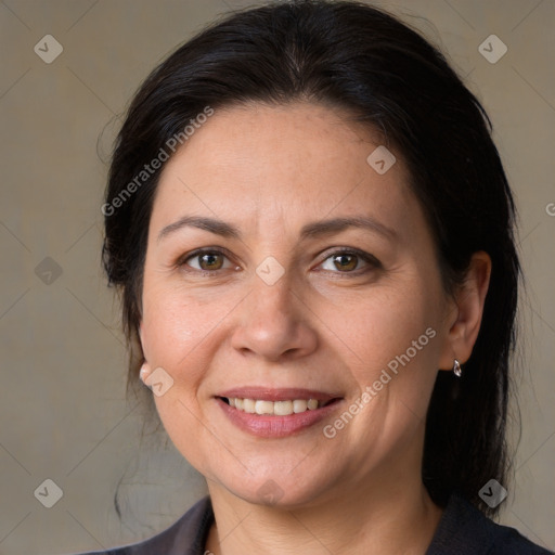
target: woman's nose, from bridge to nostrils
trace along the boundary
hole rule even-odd
[[[250,295],[241,304],[231,345],[244,356],[271,362],[306,357],[318,346],[314,319],[299,291],[292,289],[287,274],[273,285],[255,275]]]

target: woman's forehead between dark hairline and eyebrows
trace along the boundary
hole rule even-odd
[[[153,223],[186,210],[259,228],[361,212],[401,225],[416,201],[399,153],[383,175],[369,164],[377,147],[377,133],[318,104],[215,111],[166,164]]]

